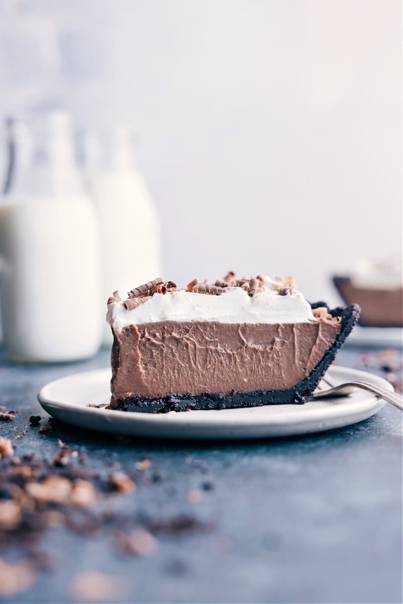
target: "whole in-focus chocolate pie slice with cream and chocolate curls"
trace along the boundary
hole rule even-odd
[[[178,290],[155,279],[108,301],[111,405],[187,411],[303,403],[352,330],[359,307],[328,310],[291,278],[235,280]]]

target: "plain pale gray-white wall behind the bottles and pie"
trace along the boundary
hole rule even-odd
[[[167,278],[336,301],[401,249],[401,37],[400,0],[0,0],[0,117],[134,126]]]

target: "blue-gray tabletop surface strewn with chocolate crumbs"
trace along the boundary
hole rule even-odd
[[[345,348],[337,362],[358,367],[363,352]],[[402,602],[401,411],[386,405],[347,428],[247,442],[124,442],[61,423],[42,434],[30,426],[31,415],[48,419],[36,399],[40,387],[108,366],[108,350],[64,365],[11,364],[1,353],[0,405],[18,413],[0,422],[0,436],[16,443],[15,455],[48,460],[61,439],[98,471],[133,474],[149,458],[134,492],[108,504],[126,518],[124,530],[141,518],[193,524],[156,532],[150,556],[119,553],[107,522],[88,535],[45,530],[40,548],[54,568],[4,601],[85,601],[71,588],[74,577],[98,571],[118,577],[120,587],[97,602]],[[193,490],[198,503],[189,501]],[[11,544],[0,555],[12,561],[24,547]]]

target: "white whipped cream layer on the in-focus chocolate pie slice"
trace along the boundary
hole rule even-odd
[[[279,283],[263,278],[260,292],[253,296],[239,287],[222,295],[204,295],[179,290],[154,294],[140,306],[126,310],[123,301],[108,304],[106,320],[115,330],[159,321],[218,321],[219,323],[303,323],[317,321],[301,292],[280,295]]]

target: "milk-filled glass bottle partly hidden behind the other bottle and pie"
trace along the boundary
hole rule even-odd
[[[116,289],[126,297],[138,284],[161,275],[160,222],[137,167],[129,130],[86,133],[85,172],[102,233],[103,298]],[[103,344],[112,343],[106,325]]]

